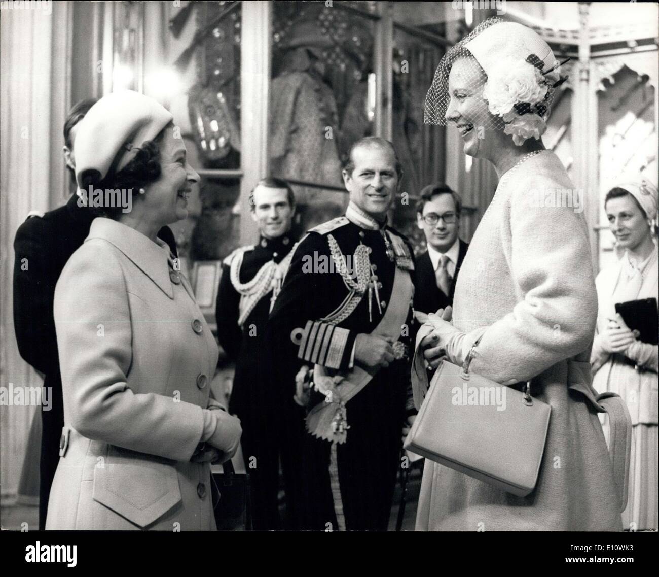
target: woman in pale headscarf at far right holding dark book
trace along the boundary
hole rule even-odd
[[[631,463],[629,499],[623,512],[623,527],[630,530],[658,526],[659,486],[659,348],[638,340],[616,313],[616,303],[657,298],[659,260],[653,239],[658,192],[646,180],[635,179],[611,189],[604,209],[617,246],[625,254],[598,274],[595,284],[599,301],[597,334],[592,346],[593,386],[612,391],[626,402],[631,415]],[[604,431],[608,419],[604,415]]]

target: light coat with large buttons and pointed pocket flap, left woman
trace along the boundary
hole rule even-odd
[[[65,434],[46,529],[215,530],[210,466],[190,457],[217,345],[168,255],[96,218],[59,278]]]

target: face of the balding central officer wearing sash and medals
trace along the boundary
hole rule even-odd
[[[398,190],[393,152],[385,146],[358,146],[353,150],[355,169],[343,171],[350,200],[376,220],[383,220]]]

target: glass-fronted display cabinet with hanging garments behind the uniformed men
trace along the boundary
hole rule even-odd
[[[188,220],[173,226],[191,271],[254,241],[246,198],[266,175],[293,185],[299,234],[341,214],[341,167],[351,144],[368,135],[397,148],[403,178],[390,218],[422,246],[415,202],[420,187],[444,178],[445,129],[424,125],[418,102],[449,42],[442,18],[416,26],[408,16],[424,3],[407,4],[106,7],[113,72],[103,92],[123,87],[158,98],[202,178]]]

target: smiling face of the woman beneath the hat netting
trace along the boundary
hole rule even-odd
[[[465,154],[478,158],[489,158],[488,152],[500,142],[498,131],[490,128],[496,117],[483,98],[486,81],[487,76],[475,59],[457,59],[449,74],[450,100],[444,115],[447,122],[455,123],[465,142]]]

